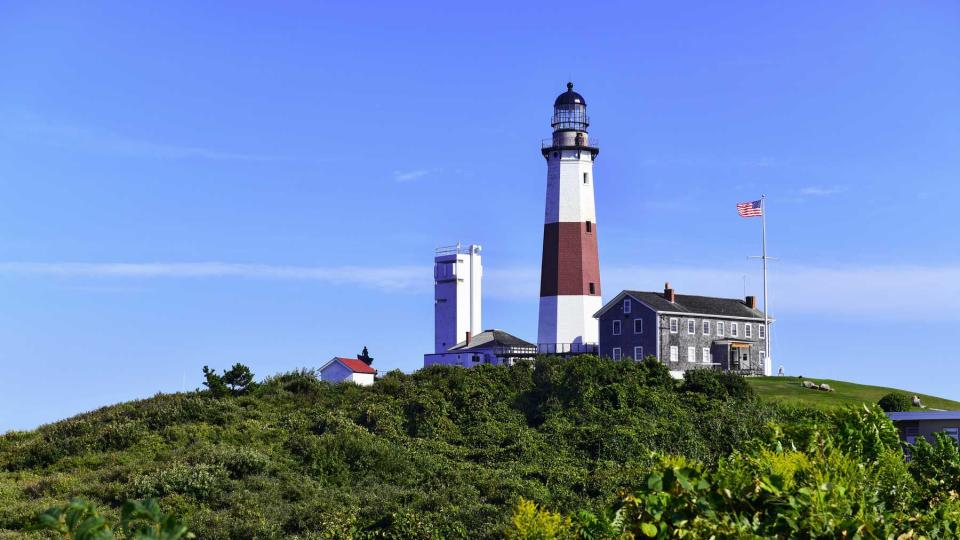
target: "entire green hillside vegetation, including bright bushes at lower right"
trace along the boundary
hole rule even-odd
[[[158,395],[0,437],[0,538],[73,497],[112,522],[152,497],[203,539],[957,533],[952,441],[908,468],[879,410],[750,388],[586,356]]]

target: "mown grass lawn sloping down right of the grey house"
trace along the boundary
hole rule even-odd
[[[835,391],[822,392],[820,390],[804,388],[800,386],[801,379],[797,377],[747,377],[750,386],[752,386],[763,399],[775,399],[782,402],[803,404],[821,409],[843,405],[858,405],[860,403],[876,403],[889,392],[903,392],[911,397],[914,394],[920,396],[920,402],[927,406],[927,410],[944,409],[948,411],[960,411],[960,402],[919,394],[909,390],[884,388],[882,386],[866,386],[863,384],[830,379],[813,379],[809,377],[803,380],[813,381],[817,384],[827,383]],[[915,408],[912,410],[919,411],[921,409]]]

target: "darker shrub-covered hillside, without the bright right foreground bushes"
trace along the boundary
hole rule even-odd
[[[712,463],[805,414],[705,401],[659,364],[594,357],[365,388],[289,373],[249,395],[158,395],[0,436],[0,538],[71,497],[114,514],[156,497],[205,540],[495,538],[520,497],[602,507],[652,451]]]

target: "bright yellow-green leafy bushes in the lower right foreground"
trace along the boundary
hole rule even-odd
[[[617,516],[593,538],[956,538],[960,450],[944,435],[918,442],[909,468],[878,407],[851,407],[803,429],[774,426],[773,448],[753,447],[707,465],[661,456],[642,482],[607,508]],[[791,439],[787,433],[793,434]],[[784,450],[802,443],[802,450]],[[912,476],[911,476],[912,474]],[[918,489],[918,486],[920,488]],[[512,532],[553,514],[523,501]],[[523,506],[526,505],[526,506]],[[569,537],[582,538],[570,519]],[[526,516],[526,519],[520,519]],[[608,521],[609,522],[609,521]],[[580,535],[580,536],[578,536]],[[524,536],[518,536],[524,537]]]

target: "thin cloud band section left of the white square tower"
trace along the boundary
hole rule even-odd
[[[199,263],[78,263],[3,262],[0,274],[86,278],[253,278],[309,280],[358,285],[391,291],[428,290],[429,267],[321,267],[267,264]]]

